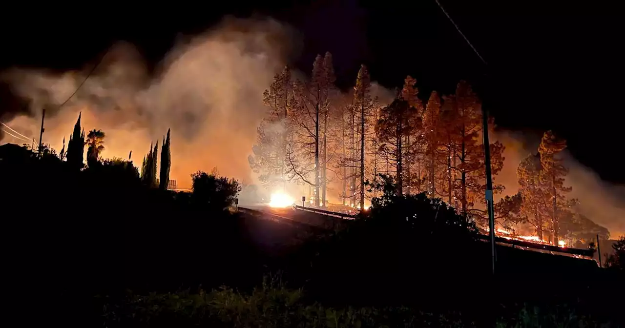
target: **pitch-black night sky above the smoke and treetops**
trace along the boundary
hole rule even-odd
[[[423,98],[432,89],[452,92],[459,79],[466,79],[500,127],[553,129],[566,137],[582,164],[625,184],[619,161],[625,149],[620,99],[625,23],[616,6],[440,1],[487,67],[434,0],[223,1],[218,7],[191,1],[107,2],[104,7],[47,4],[36,13],[16,5],[3,10],[0,19],[1,66],[78,69],[118,40],[132,42],[158,62],[179,33],[205,31],[224,14],[265,14],[301,32],[303,49],[294,64],[303,71],[311,69],[317,53],[330,51],[342,87],[351,84],[361,63],[386,87],[401,86],[410,74]]]

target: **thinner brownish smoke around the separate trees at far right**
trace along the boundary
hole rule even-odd
[[[541,135],[499,131],[494,137],[506,146],[506,162],[495,182],[506,187],[506,195],[515,194],[519,189],[516,167],[521,159],[537,152]],[[612,239],[625,234],[625,186],[603,181],[566,150],[562,159],[569,169],[565,186],[572,187],[567,196],[579,200],[577,210],[596,224],[606,227]]]

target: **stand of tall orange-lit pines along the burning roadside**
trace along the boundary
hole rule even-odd
[[[311,189],[315,206],[326,206],[332,192],[343,205],[363,209],[377,195],[366,182],[390,174],[398,194],[441,198],[487,226],[482,104],[466,81],[457,84],[454,94],[433,91],[424,102],[416,79],[408,76],[391,104],[371,96],[364,65],[353,90],[342,92],[334,81],[329,52],[316,57],[306,81],[294,79],[289,67],[276,74],[264,93],[269,114],[249,157],[262,184],[272,190],[286,189],[287,182],[303,184]],[[494,119],[487,122],[492,131]],[[496,182],[505,147],[499,141],[487,146]],[[565,147],[566,141],[547,131],[536,155],[518,164],[520,191],[499,197],[494,206],[499,226],[511,231],[531,226],[536,236],[556,244],[584,241],[579,235],[587,218],[576,212],[576,200],[566,197],[571,188],[561,159]],[[497,183],[493,189],[496,196],[504,191]],[[597,229],[601,238],[609,237]]]

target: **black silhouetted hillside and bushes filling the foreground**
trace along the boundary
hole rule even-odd
[[[76,169],[0,149],[6,321],[21,326],[622,324],[622,241],[606,269],[499,247],[492,277],[471,222],[422,194],[397,196],[392,181],[373,186],[384,193],[367,216],[293,244],[294,227],[232,212],[240,188],[217,174],[176,193],[132,162]]]

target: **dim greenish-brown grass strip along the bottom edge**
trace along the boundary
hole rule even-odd
[[[266,278],[248,293],[221,287],[204,292],[180,291],[134,295],[111,304],[104,297],[106,327],[476,327],[469,316],[458,312],[431,313],[409,307],[346,307],[306,304],[302,289],[287,289],[279,279]],[[575,309],[556,306],[544,309],[522,304],[516,315],[500,317],[496,327],[617,327]],[[489,325],[490,326],[490,325]]]

